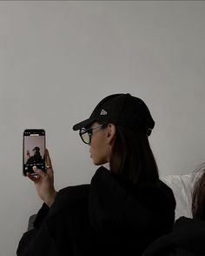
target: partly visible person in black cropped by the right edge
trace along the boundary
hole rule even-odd
[[[192,195],[193,219],[177,219],[173,231],[157,239],[143,256],[205,255],[205,163],[197,170],[196,176]]]

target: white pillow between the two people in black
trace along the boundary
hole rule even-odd
[[[197,176],[195,173],[189,173],[186,175],[167,175],[160,178],[165,184],[169,185],[174,193],[176,201],[175,219],[182,216],[192,218],[191,195],[195,184],[195,176]]]

